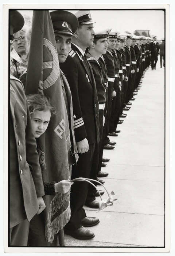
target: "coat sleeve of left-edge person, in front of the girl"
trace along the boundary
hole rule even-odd
[[[25,96],[26,97],[26,96]],[[27,126],[26,126],[26,161],[32,167],[31,174],[34,180],[37,197],[44,195],[42,172],[39,165],[39,157],[36,151],[36,140],[32,132],[30,112],[27,105]]]

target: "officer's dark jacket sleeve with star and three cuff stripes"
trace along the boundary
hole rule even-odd
[[[75,141],[79,142],[87,137],[87,133],[79,102],[78,90],[80,90],[79,86],[81,85],[78,84],[78,65],[73,57],[67,56],[66,61],[60,63],[60,68],[65,74],[70,86],[73,102]]]

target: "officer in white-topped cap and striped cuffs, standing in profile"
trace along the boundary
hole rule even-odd
[[[72,94],[74,133],[79,159],[72,166],[71,178],[90,177],[95,144],[99,142],[98,98],[92,67],[85,50],[93,45],[93,20],[89,11],[75,13],[79,26],[72,38],[69,56],[60,68],[64,72]],[[94,233],[85,227],[97,225],[95,217],[86,217],[83,205],[88,193],[87,182],[74,182],[71,186],[71,218],[64,231],[77,239],[91,239]]]

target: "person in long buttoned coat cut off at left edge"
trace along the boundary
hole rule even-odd
[[[13,33],[23,25],[23,16],[10,11],[11,50]],[[9,245],[27,246],[29,222],[45,208],[44,187],[24,87],[14,76],[10,77],[9,155]]]

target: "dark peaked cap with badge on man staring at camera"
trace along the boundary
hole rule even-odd
[[[59,10],[50,12],[54,31],[61,34],[73,35],[78,29],[78,19],[71,12]]]

